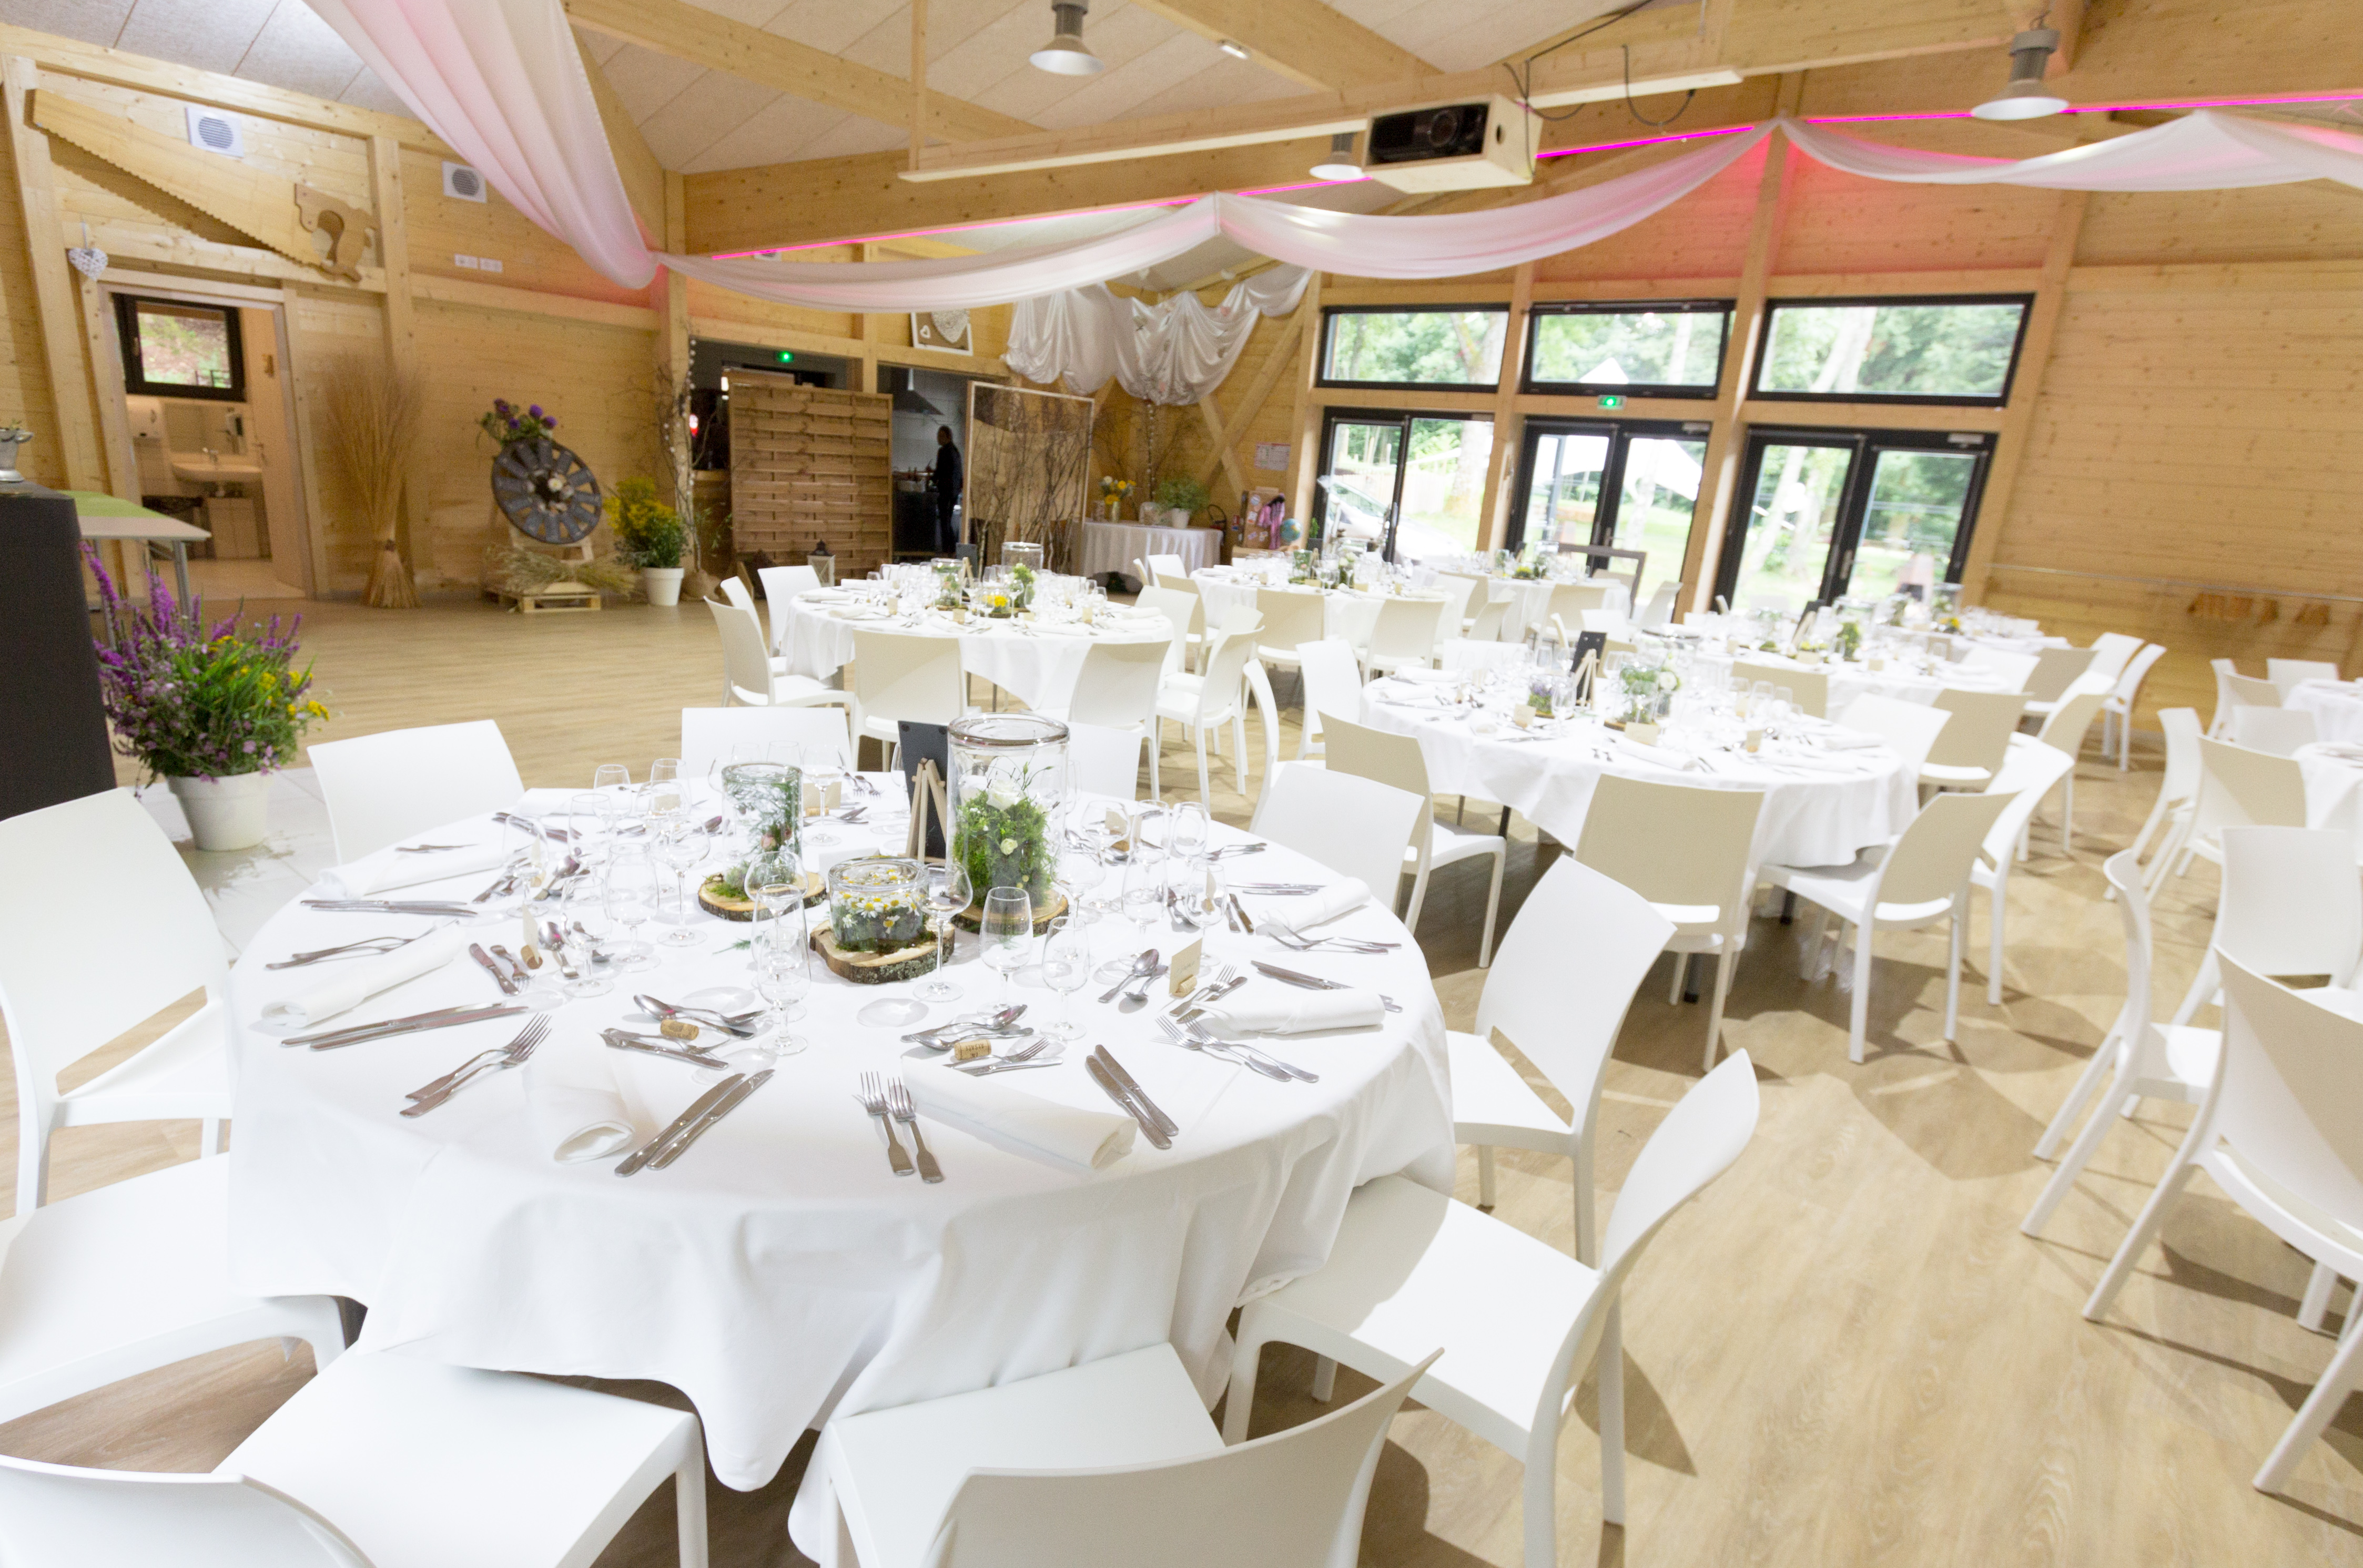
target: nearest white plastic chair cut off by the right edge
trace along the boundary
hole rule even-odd
[[[2363,1278],[2363,1247],[2356,1244],[2363,1230],[2363,1023],[2266,980],[2231,954],[2221,963],[2221,1067],[2174,1164],[2084,1304],[2091,1320],[2108,1313],[2198,1171],[2290,1247],[2349,1280]],[[2358,1322],[2363,1313],[2346,1315],[2330,1367],[2252,1481],[2259,1492],[2287,1485],[2363,1381]]]

